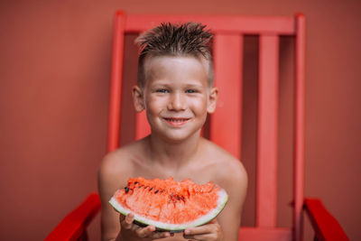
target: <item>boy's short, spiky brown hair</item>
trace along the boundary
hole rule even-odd
[[[161,23],[161,25],[143,32],[135,42],[140,47],[138,60],[138,84],[143,87],[145,81],[144,61],[157,56],[192,56],[208,61],[208,85],[213,86],[214,70],[212,56],[208,49],[213,33],[204,30],[200,23]]]

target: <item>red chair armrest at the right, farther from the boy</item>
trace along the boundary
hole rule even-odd
[[[305,199],[304,209],[306,210],[310,223],[315,231],[316,240],[319,241],[344,241],[349,240],[345,231],[323,206],[319,199]]]

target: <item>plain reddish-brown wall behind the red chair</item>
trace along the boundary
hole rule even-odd
[[[88,192],[97,190],[97,165],[106,152],[112,20],[117,9],[124,9],[154,14],[306,14],[305,194],[323,199],[351,240],[361,240],[356,225],[361,223],[361,2],[183,0],[174,5],[160,0],[0,3],[0,188],[5,193],[0,199],[1,239],[41,240]],[[287,60],[292,58],[292,40],[283,38],[281,43],[286,68],[280,79],[278,223],[290,226],[292,66]],[[245,226],[255,220],[257,59],[252,50],[257,50],[255,37],[245,40],[243,162],[251,177]],[[127,62],[134,62],[136,50],[127,51]],[[134,81],[134,68],[125,71]],[[122,142],[130,139],[126,135]],[[97,222],[91,231],[94,240]],[[308,222],[305,228],[306,240],[311,240]]]

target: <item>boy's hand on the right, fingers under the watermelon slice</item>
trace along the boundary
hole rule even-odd
[[[187,228],[184,230],[184,238],[191,240],[203,241],[220,241],[223,240],[223,232],[216,218],[208,224],[199,227]]]

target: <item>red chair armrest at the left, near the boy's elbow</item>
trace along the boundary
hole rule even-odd
[[[100,199],[97,193],[91,193],[77,209],[72,210],[55,227],[45,241],[78,240],[86,231],[89,222],[100,209]]]

